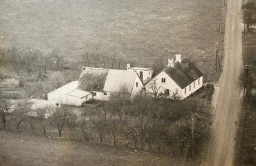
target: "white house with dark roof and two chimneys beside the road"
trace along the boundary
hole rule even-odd
[[[168,59],[167,68],[156,74],[145,85],[150,94],[181,100],[202,86],[203,73],[188,59],[182,60],[181,54],[177,54],[175,59]]]

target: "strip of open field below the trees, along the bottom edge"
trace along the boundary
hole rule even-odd
[[[0,165],[199,165],[165,154],[131,152],[0,130]]]

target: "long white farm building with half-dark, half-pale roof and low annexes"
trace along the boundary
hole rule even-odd
[[[120,92],[124,87],[131,97],[141,92],[143,82],[137,72],[84,67],[79,81],[48,93],[48,101],[76,106],[92,99],[108,101],[113,92]]]

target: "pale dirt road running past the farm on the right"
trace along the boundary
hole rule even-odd
[[[241,70],[241,0],[227,1],[225,58],[223,73],[217,87],[219,98],[214,115],[214,135],[205,160],[207,166],[233,165],[235,121],[240,110],[240,88],[237,84]]]

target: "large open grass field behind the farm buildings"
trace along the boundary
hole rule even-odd
[[[222,0],[1,0],[1,47],[126,55],[137,65],[183,54],[216,80],[214,43]]]

